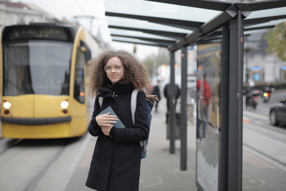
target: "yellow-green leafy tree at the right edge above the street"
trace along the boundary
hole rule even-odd
[[[286,22],[277,24],[264,37],[268,47],[266,52],[276,54],[282,61],[286,61]]]

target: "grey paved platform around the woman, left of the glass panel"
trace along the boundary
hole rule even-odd
[[[197,190],[195,182],[195,124],[187,127],[187,170],[180,170],[180,140],[175,141],[175,154],[169,153],[169,140],[166,139],[166,101],[158,105],[158,113],[152,110],[152,124],[148,142],[147,157],[141,160],[140,191]],[[89,142],[75,172],[70,179],[67,191],[90,191],[85,186],[89,165],[96,138]]]

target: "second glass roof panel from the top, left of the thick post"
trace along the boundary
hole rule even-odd
[[[108,25],[114,25],[118,27],[132,27],[139,29],[149,29],[149,30],[162,30],[176,33],[186,33],[189,34],[191,30],[180,29],[177,27],[169,27],[166,25],[150,23],[145,20],[138,19],[127,19],[122,17],[106,16]]]

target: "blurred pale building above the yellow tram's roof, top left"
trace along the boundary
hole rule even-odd
[[[0,25],[29,23],[61,23],[50,13],[34,4],[0,0]]]

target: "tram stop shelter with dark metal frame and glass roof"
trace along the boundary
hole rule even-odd
[[[202,68],[197,70],[198,80],[214,81],[212,110],[205,125],[207,131],[212,129],[215,144],[208,145],[211,156],[204,155],[208,148],[197,146],[197,188],[205,189],[201,169],[209,165],[218,167],[211,172],[217,190],[242,190],[244,35],[286,22],[286,1],[104,0],[104,5],[113,41],[169,50],[171,89],[175,89],[175,51],[181,50],[181,170],[187,169],[187,47],[197,45],[197,66]],[[174,97],[171,91],[170,153],[175,152]],[[201,159],[215,162],[200,164]]]

